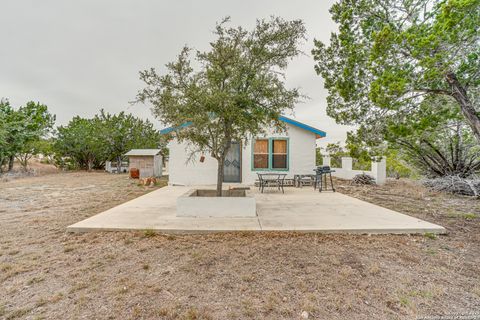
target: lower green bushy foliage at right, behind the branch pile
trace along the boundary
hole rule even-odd
[[[468,177],[480,169],[480,146],[451,100],[428,97],[411,116],[397,116],[395,121],[392,119],[385,124],[383,134],[360,126],[356,134],[348,135],[348,143],[372,156],[387,154],[390,163],[393,161],[391,153],[395,150],[399,156],[396,161],[405,161],[408,167],[416,169],[410,176]],[[377,146],[372,147],[372,136],[378,139]],[[391,168],[387,166],[387,170]],[[390,173],[395,177],[403,176],[398,170]]]

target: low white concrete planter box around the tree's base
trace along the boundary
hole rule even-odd
[[[177,198],[177,217],[255,217],[255,198],[250,190],[190,190]]]

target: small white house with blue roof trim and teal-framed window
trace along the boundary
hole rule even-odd
[[[315,168],[316,140],[326,136],[322,130],[287,117],[280,117],[286,123],[286,130],[257,136],[241,146],[234,143],[224,164],[224,182],[251,185],[257,179],[257,172],[282,172],[287,178],[294,174],[312,174]],[[188,124],[184,125],[188,126]],[[183,126],[182,126],[183,127]],[[163,134],[179,128],[166,128]],[[196,155],[188,161],[189,147],[173,139],[168,148],[169,184],[208,185],[217,180],[217,160],[210,155]]]

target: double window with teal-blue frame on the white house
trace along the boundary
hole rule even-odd
[[[288,170],[288,139],[254,140],[252,160],[254,170]]]

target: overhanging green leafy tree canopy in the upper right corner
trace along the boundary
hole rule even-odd
[[[423,99],[454,101],[480,142],[480,0],[340,0],[315,69],[339,123],[381,131]]]

